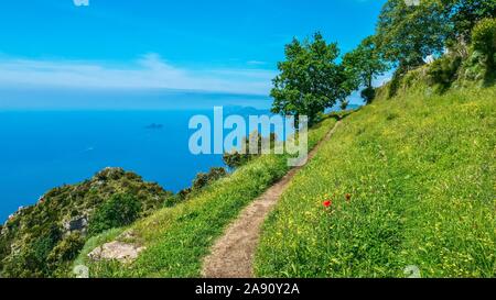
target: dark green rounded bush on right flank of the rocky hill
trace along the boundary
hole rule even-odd
[[[99,207],[89,220],[90,235],[131,224],[141,212],[141,203],[132,196],[117,193]]]

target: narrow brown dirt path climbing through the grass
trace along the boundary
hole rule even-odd
[[[331,138],[337,126],[309,153],[309,160],[315,156],[323,142]],[[289,187],[291,179],[302,167],[291,169],[279,182],[241,211],[239,216],[216,241],[211,255],[204,259],[202,276],[206,278],[251,278],[254,256],[260,236],[260,226],[268,213]]]

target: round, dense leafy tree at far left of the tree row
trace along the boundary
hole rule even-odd
[[[285,46],[285,62],[278,64],[279,76],[273,79],[272,112],[282,115],[309,116],[312,124],[320,112],[344,99],[344,68],[335,63],[337,44],[327,44],[320,33],[313,41],[296,38]]]

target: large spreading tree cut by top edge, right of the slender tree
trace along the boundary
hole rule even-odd
[[[450,23],[438,0],[419,5],[389,0],[379,15],[377,42],[384,58],[398,67],[398,75],[424,64],[428,55],[441,53]]]

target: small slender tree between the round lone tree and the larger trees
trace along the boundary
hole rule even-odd
[[[388,69],[380,57],[375,36],[366,37],[356,49],[347,53],[343,58],[343,66],[348,75],[349,87],[353,90],[365,87],[366,92],[362,92],[362,97],[369,103],[374,99],[370,92],[374,90],[374,79]]]

